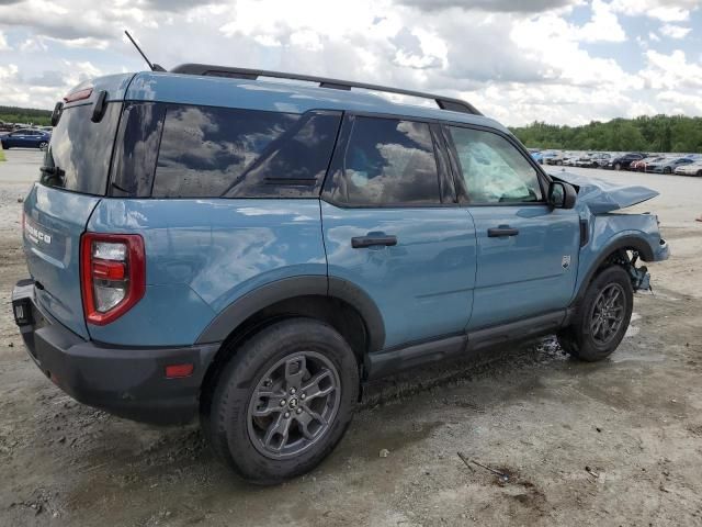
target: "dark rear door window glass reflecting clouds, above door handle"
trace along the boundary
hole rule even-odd
[[[353,117],[332,198],[350,205],[440,203],[429,125],[396,119]]]

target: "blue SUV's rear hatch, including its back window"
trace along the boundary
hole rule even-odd
[[[80,236],[106,192],[122,99],[131,78],[104,77],[71,92],[82,98],[61,110],[38,181],[24,201],[24,253],[36,284],[36,301],[86,338]],[[95,114],[101,98],[104,109]]]

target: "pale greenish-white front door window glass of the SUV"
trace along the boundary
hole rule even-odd
[[[471,203],[542,200],[536,169],[497,134],[449,126]]]

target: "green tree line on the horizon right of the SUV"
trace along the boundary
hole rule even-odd
[[[534,122],[512,127],[524,145],[563,150],[702,153],[702,117],[655,115],[582,126]]]

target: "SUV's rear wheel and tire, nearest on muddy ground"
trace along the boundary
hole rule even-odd
[[[314,390],[328,393],[304,401]],[[236,350],[217,377],[201,424],[223,461],[244,479],[270,485],[308,472],[331,452],[351,422],[358,394],[359,366],[341,335],[310,318],[290,318]]]

